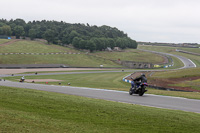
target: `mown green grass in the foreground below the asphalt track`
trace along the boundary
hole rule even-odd
[[[198,133],[200,114],[0,86],[0,132]]]

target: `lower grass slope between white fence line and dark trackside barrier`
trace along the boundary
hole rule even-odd
[[[66,55],[6,55],[0,56],[0,64],[66,64],[71,67],[122,67],[110,60],[85,54]]]

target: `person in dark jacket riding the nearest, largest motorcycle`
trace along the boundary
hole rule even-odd
[[[131,78],[131,79],[133,80],[131,82],[131,87],[133,89],[138,89],[141,83],[147,83],[147,78],[144,73],[142,73],[141,76],[138,78],[135,78],[135,79]],[[136,84],[136,87],[135,87],[135,84]]]

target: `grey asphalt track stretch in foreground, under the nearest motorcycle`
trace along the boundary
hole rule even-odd
[[[19,83],[11,81],[0,81],[0,85],[26,88],[26,89],[36,89],[42,91],[104,99],[116,102],[124,102],[130,104],[139,104],[144,106],[200,113],[200,100],[194,100],[194,99],[186,99],[186,98],[178,98],[170,96],[158,96],[151,94],[144,94],[144,96],[142,97],[138,95],[130,96],[128,91],[125,92],[125,91],[95,89],[86,87],[52,86],[52,85],[42,85],[33,83]]]

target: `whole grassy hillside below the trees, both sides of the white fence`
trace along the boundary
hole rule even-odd
[[[123,52],[94,52],[86,54],[76,49],[58,45],[47,45],[38,41],[20,40],[1,46],[0,53],[57,53],[70,52],[80,54],[64,55],[0,55],[0,64],[65,64],[72,67],[122,67],[111,60],[160,63],[161,56],[129,49]],[[145,58],[148,57],[148,58]]]

